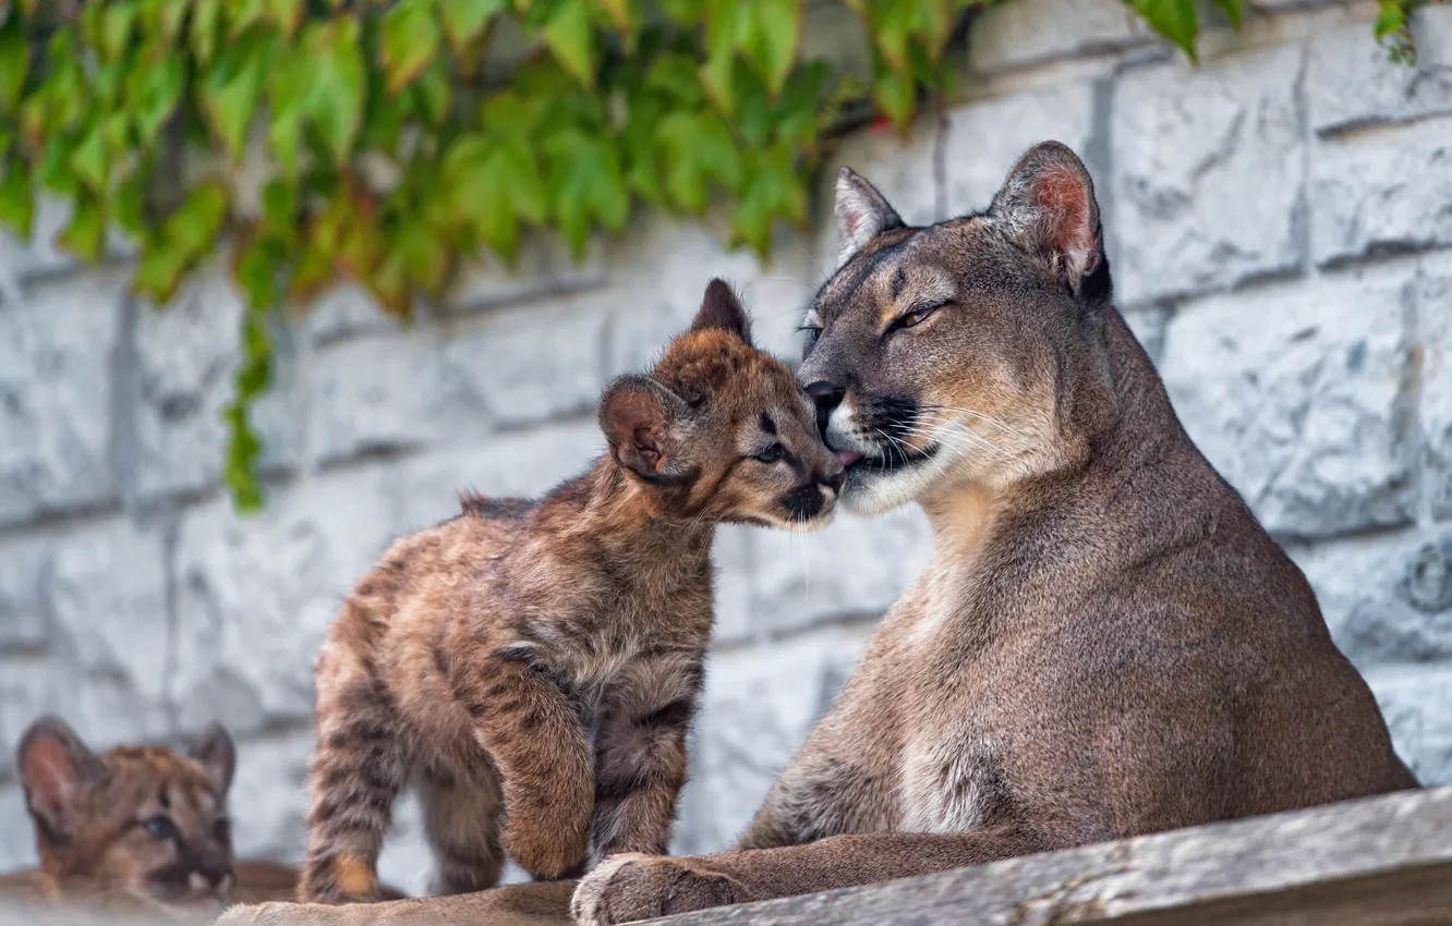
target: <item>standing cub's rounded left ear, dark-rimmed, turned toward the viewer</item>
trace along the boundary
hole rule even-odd
[[[649,482],[678,475],[671,425],[685,401],[649,376],[620,376],[600,396],[600,430],[616,462]]]

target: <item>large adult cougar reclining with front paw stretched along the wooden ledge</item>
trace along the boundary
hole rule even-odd
[[[1079,158],[1040,145],[986,213],[931,228],[849,171],[838,202],[860,241],[812,308],[802,377],[828,444],[861,454],[844,504],[916,499],[932,563],[738,849],[608,859],[578,922],[1417,787],[1305,578],[1112,308]]]

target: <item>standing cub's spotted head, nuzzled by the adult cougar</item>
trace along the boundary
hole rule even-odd
[[[842,464],[791,370],[752,345],[722,280],[650,374],[616,379],[598,411],[616,460],[669,514],[788,530],[832,520]]]

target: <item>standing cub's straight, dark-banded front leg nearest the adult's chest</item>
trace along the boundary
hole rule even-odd
[[[601,717],[588,866],[619,852],[665,853],[685,784],[685,739],[694,713],[691,692],[635,710],[621,705]]]

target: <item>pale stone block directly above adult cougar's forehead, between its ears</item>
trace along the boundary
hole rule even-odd
[[[1015,10],[1011,3],[999,10]],[[1028,6],[1032,6],[1029,3]],[[1051,3],[1040,3],[1048,7]],[[1119,6],[1092,0],[1086,6]],[[1093,84],[1073,81],[1025,90],[960,106],[948,113],[948,213],[964,215],[989,208],[1019,157],[1041,141],[1059,141],[1090,158],[1093,134]],[[1090,170],[1096,165],[1090,164]],[[1108,190],[1108,177],[1095,177]],[[932,174],[919,177],[931,183]]]

